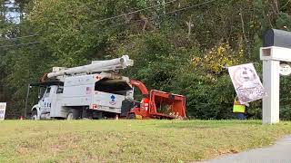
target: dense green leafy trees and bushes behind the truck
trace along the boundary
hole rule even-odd
[[[4,39],[0,41],[0,101],[8,101],[8,117],[23,113],[27,84],[37,82],[51,67],[128,54],[135,66],[123,74],[150,89],[186,95],[188,116],[232,118],[236,93],[226,65],[256,62],[261,72],[262,35],[270,27],[290,30],[291,3],[219,0],[197,5],[204,2],[18,0],[17,11],[25,12],[20,24],[5,20],[6,8],[0,5]],[[180,10],[192,5],[197,6]],[[110,18],[146,7],[151,8]],[[33,44],[18,46],[22,43]],[[1,47],[5,45],[17,46]],[[286,87],[290,80],[281,81],[281,117],[290,120],[291,93]],[[260,118],[261,102],[253,102],[249,113]]]

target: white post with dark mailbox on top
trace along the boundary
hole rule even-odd
[[[260,49],[263,61],[263,124],[279,122],[280,62],[291,62],[291,33],[270,29]]]

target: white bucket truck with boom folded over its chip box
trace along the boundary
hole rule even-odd
[[[75,68],[54,67],[42,82],[39,101],[32,108],[33,120],[115,118],[122,113],[122,103],[133,100],[130,80],[115,73],[133,65],[127,55],[107,61],[96,61]],[[25,107],[26,110],[26,107]]]

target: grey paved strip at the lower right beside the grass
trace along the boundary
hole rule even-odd
[[[276,141],[262,149],[251,149],[242,153],[226,155],[204,161],[205,163],[291,163],[291,136]]]

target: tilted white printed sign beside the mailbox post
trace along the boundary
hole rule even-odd
[[[236,89],[238,100],[242,104],[266,96],[266,91],[252,63],[229,67],[228,72]]]

